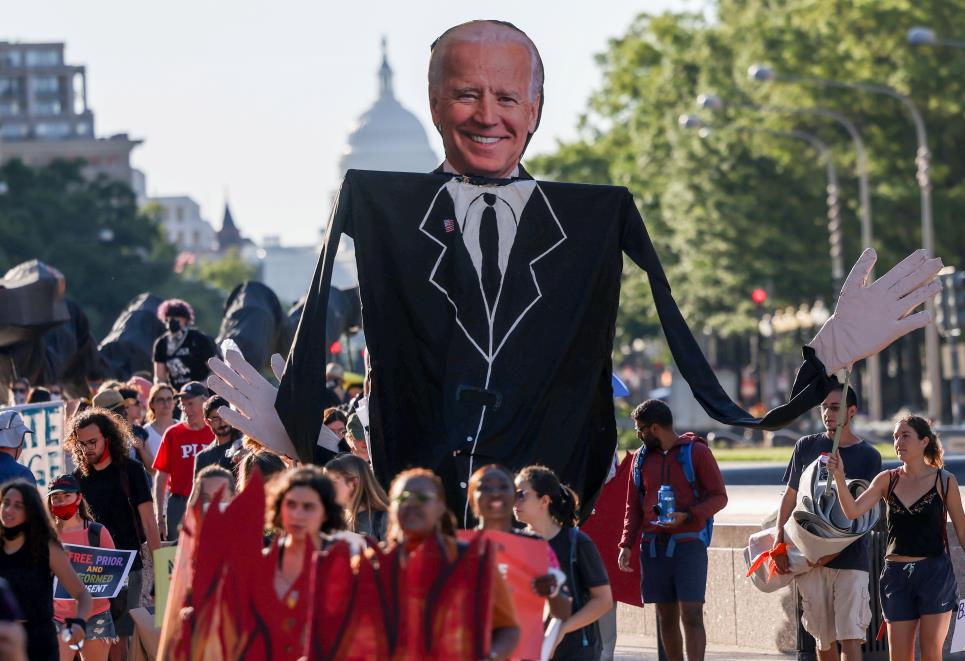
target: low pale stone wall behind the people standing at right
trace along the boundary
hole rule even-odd
[[[717,524],[707,550],[707,598],[704,626],[709,646],[735,646],[760,652],[793,652],[797,621],[793,587],[765,594],[746,578],[744,546],[760,526]],[[955,529],[948,524],[948,541],[958,580],[959,594],[965,596],[965,552]],[[954,627],[954,622],[952,623]],[[656,613],[652,605],[643,609],[626,604],[617,607],[618,633],[656,639]],[[946,650],[951,642],[949,628]]]

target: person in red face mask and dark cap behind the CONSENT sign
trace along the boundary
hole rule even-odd
[[[102,549],[114,548],[114,539],[105,526],[94,521],[80,493],[80,482],[73,475],[61,475],[50,484],[47,492],[47,509],[60,541],[77,546],[93,546]],[[58,633],[63,630],[67,620],[77,617],[77,602],[68,599],[54,599],[54,624]],[[58,636],[60,658],[70,661],[76,653],[70,649],[63,638]],[[111,617],[110,599],[93,599],[90,615],[87,618],[87,638],[81,656],[84,661],[104,661],[111,645],[117,642],[114,619]]]

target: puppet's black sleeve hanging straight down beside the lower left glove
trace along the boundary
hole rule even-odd
[[[352,170],[345,173],[335,199],[322,253],[275,398],[275,409],[288,430],[298,458],[305,463],[314,459],[318,430],[322,427],[324,409],[319,403],[325,401],[325,363],[328,359],[325,322],[339,239],[343,233],[351,236],[352,173]]]

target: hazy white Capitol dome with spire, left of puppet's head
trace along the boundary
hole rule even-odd
[[[340,176],[352,168],[396,172],[431,172],[441,161],[429,146],[425,128],[402,107],[392,89],[392,67],[382,38],[379,98],[356,120],[339,159]]]

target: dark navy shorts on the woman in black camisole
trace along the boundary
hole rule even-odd
[[[881,610],[889,622],[958,608],[958,586],[947,553],[917,562],[885,562],[878,582]]]

